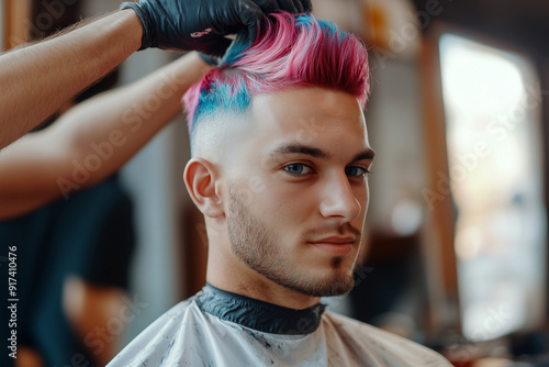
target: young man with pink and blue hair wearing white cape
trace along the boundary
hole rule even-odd
[[[349,292],[373,151],[367,52],[312,15],[277,14],[186,96],[184,181],[205,218],[208,285],[110,366],[450,366],[321,297]]]

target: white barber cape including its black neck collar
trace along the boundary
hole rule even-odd
[[[287,309],[206,285],[108,367],[451,366],[419,344],[324,309]]]

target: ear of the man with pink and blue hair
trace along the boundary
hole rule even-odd
[[[217,177],[215,166],[203,158],[192,158],[184,168],[183,179],[192,201],[210,218],[224,215],[223,200],[215,189]]]

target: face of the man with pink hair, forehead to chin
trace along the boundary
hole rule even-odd
[[[234,142],[231,248],[251,274],[313,297],[352,289],[373,158],[352,96],[318,88],[255,98]]]

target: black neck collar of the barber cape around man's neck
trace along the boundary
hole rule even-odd
[[[197,297],[199,308],[214,316],[271,334],[303,335],[318,327],[326,305],[294,310],[227,292],[206,283]]]

